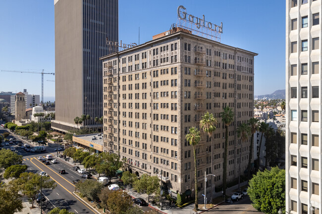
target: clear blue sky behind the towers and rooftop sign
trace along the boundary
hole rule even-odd
[[[119,0],[119,40],[140,43],[168,30],[177,7],[223,23],[221,43],[258,53],[255,95],[285,89],[284,0]],[[54,72],[54,0],[0,1],[0,70]],[[0,91],[41,94],[40,74],[0,72]],[[44,96],[54,96],[53,75],[44,76]]]

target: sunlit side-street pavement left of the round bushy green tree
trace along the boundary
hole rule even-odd
[[[264,214],[257,211],[252,205],[249,196],[244,196],[242,200],[238,202],[234,201],[233,204],[223,203],[214,209],[206,212],[207,214]],[[277,213],[277,211],[276,211]]]

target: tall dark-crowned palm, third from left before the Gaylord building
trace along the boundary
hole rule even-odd
[[[223,164],[222,164],[222,191],[223,196],[226,196],[226,185],[227,185],[227,147],[228,147],[228,127],[234,121],[234,113],[228,106],[223,109],[220,113],[222,123],[225,125],[225,145],[223,153]]]

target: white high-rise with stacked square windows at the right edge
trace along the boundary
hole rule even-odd
[[[286,211],[322,203],[321,0],[286,1]]]

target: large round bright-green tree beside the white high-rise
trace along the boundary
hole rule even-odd
[[[258,171],[249,181],[247,193],[255,209],[276,214],[279,208],[285,208],[285,170],[274,167]]]

